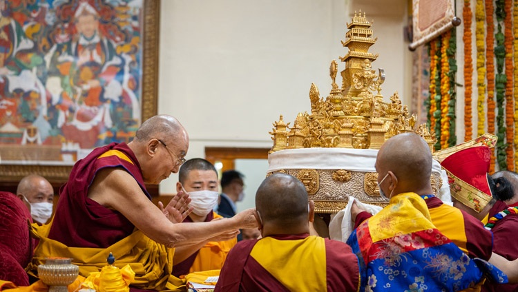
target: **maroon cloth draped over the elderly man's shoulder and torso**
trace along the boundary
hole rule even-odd
[[[75,163],[61,187],[48,238],[68,247],[106,248],[133,232],[135,226],[122,213],[87,197],[97,171],[108,167],[126,170],[151,200],[137,158],[126,143],[96,148]]]

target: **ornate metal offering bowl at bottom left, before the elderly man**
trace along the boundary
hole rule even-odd
[[[79,267],[71,258],[46,258],[38,266],[38,277],[49,287],[49,292],[68,291],[67,286],[79,275]]]

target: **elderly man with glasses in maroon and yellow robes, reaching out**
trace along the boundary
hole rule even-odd
[[[117,267],[136,272],[133,291],[174,290],[184,284],[171,275],[173,247],[228,240],[238,229],[257,226],[254,210],[212,222],[181,223],[191,213],[189,196],[178,194],[160,209],[145,184],[158,184],[185,162],[189,136],[172,116],[153,116],[135,138],[94,149],[73,167],[61,187],[52,222],[32,227],[39,238],[32,267],[49,256],[73,258],[79,274],[106,266],[110,252]],[[214,240],[213,240],[214,239]]]

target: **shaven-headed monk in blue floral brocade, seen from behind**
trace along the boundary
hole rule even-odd
[[[367,291],[480,289],[484,272],[507,277],[488,262],[470,259],[433,224],[421,198],[432,194],[432,154],[416,134],[387,140],[376,159],[378,186],[390,203],[361,223],[347,240],[358,255]]]

